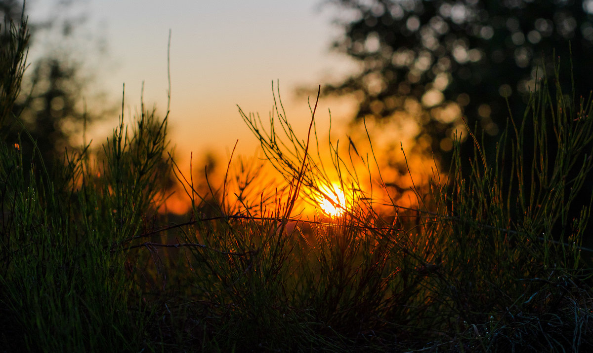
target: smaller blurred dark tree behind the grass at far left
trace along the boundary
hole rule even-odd
[[[60,6],[68,7],[69,2],[60,3]],[[27,11],[28,2],[24,7],[23,1],[0,0],[0,13],[7,23],[18,23],[21,15],[27,17]],[[59,28],[60,35],[68,37],[80,21],[80,18],[49,18],[29,23],[30,44],[35,45],[36,35],[55,27]],[[44,163],[49,168],[56,158],[63,156],[65,148],[72,147],[71,136],[81,133],[85,119],[91,122],[98,118],[87,114],[82,105],[81,92],[86,85],[86,77],[81,75],[80,69],[81,64],[64,51],[44,53],[27,68],[21,96],[12,108],[14,116],[20,118],[13,122],[8,141],[17,143],[20,140],[25,156],[32,157],[33,147],[24,134],[25,128],[36,141]]]

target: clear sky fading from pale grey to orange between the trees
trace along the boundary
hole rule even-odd
[[[307,97],[296,96],[295,89],[315,88],[356,68],[331,53],[340,29],[331,24],[336,9],[321,7],[321,1],[86,0],[66,9],[52,0],[27,3],[30,21],[68,14],[84,18],[65,50],[94,73],[88,105],[97,92],[120,105],[125,83],[126,114],[139,109],[143,82],[146,105],[164,113],[171,31],[170,137],[177,155],[212,151],[225,157],[237,140],[240,153],[253,154],[257,147],[237,105],[266,119],[273,105],[272,82],[279,80],[289,121],[306,134]],[[31,57],[64,47],[52,38],[37,38]],[[331,109],[332,129],[339,131],[353,108],[348,99],[322,99],[317,122],[328,127]],[[117,115],[95,127],[95,140],[109,134]]]

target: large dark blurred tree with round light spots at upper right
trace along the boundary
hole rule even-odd
[[[406,98],[417,99],[426,108],[419,119],[419,137],[431,141],[433,151],[451,148],[455,121],[439,109],[451,102],[458,103],[468,125],[477,124],[486,138],[497,135],[506,124],[505,97],[514,118],[521,118],[538,65],[553,64],[554,50],[556,57],[568,63],[569,41],[577,95],[586,96],[591,89],[591,0],[327,3],[339,10],[336,22],[344,29],[334,49],[361,62],[362,70],[326,86],[325,92],[356,92],[356,119],[388,119],[403,109]],[[553,74],[550,66],[547,69]],[[537,76],[543,76],[541,67]],[[572,89],[567,87],[565,92]]]

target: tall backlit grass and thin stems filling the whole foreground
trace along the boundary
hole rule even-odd
[[[12,44],[1,57],[16,58],[1,66],[2,131],[18,118],[27,37],[25,23],[2,28]],[[304,139],[279,95],[265,123],[240,110],[284,177],[276,186],[229,163],[221,187],[199,192],[170,157],[167,115],[144,105],[130,125],[122,109],[101,151],[68,153],[54,171],[24,168],[20,146],[3,142],[0,341],[7,351],[588,351],[592,105],[549,84],[495,151],[471,134],[474,156],[461,156],[457,142],[448,173],[435,167],[412,187],[415,208],[393,202],[372,150],[330,141],[324,164],[317,102]],[[192,203],[178,222],[157,212],[171,176]],[[341,216],[299,216],[303,200],[335,200],[333,183],[348,200],[334,205]]]

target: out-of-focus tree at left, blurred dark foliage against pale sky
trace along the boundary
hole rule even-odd
[[[31,4],[34,6],[35,2],[0,0],[4,22],[18,23],[21,16],[27,18]],[[100,100],[101,93],[87,92],[93,74],[84,67],[78,51],[69,46],[69,38],[85,21],[84,14],[69,11],[73,5],[74,1],[56,1],[46,17],[28,21],[29,46],[36,49],[37,57],[27,59],[21,94],[12,107],[14,116],[19,118],[11,124],[8,141],[20,144],[30,160],[33,144],[25,136],[26,129],[49,171],[63,157],[65,149],[80,147],[79,137],[87,124],[104,118],[116,107],[107,104],[104,111],[97,112],[88,111],[85,106],[85,98]]]

